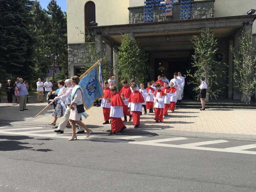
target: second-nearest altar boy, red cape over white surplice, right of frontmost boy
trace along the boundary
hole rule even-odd
[[[133,114],[134,128],[138,128],[140,125],[140,113],[142,112],[142,103],[144,103],[143,95],[137,90],[137,85],[131,86],[133,92],[128,100],[131,112]]]

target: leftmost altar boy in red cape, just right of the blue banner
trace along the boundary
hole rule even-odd
[[[100,107],[102,107],[105,121],[103,124],[108,124],[110,119],[110,99],[112,98],[112,93],[110,92],[109,83],[107,81],[104,81],[104,87],[104,95],[102,96]]]

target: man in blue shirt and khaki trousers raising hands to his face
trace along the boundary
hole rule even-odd
[[[27,95],[28,95],[28,82],[23,82],[23,79],[19,79],[17,85],[20,91],[20,111],[28,110],[27,107]]]

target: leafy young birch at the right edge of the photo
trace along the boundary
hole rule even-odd
[[[233,88],[241,94],[242,103],[250,103],[256,86],[256,48],[253,45],[252,31],[243,28],[238,50],[233,52]]]

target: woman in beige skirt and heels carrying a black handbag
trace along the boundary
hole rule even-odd
[[[72,137],[69,139],[69,141],[72,141],[74,139],[77,139],[76,137],[76,124],[78,124],[80,127],[83,127],[86,132],[87,136],[89,137],[92,130],[87,128],[85,124],[83,124],[81,119],[81,113],[78,113],[76,105],[81,105],[83,104],[83,95],[82,95],[82,90],[78,83],[80,82],[80,79],[78,76],[71,77],[71,84],[74,87],[71,92],[71,103],[68,107],[71,107],[71,112],[69,116],[69,121],[71,123],[72,127]]]

